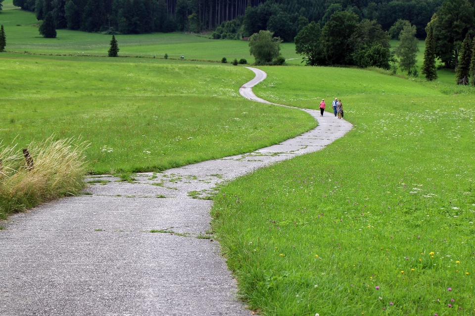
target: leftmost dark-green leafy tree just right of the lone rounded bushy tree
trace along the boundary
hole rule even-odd
[[[315,66],[324,59],[321,35],[320,25],[312,21],[295,37],[295,52],[304,55],[303,60],[307,66]]]

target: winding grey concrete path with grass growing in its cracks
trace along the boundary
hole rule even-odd
[[[256,78],[239,92],[267,102],[251,90],[266,74],[249,69]],[[332,114],[304,111],[319,126],[281,144],[142,173],[134,183],[101,176],[112,182],[11,216],[0,231],[0,316],[250,315],[236,299],[219,244],[207,235],[212,200],[192,197],[320,150],[352,128]]]

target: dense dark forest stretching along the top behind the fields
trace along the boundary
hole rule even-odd
[[[57,29],[110,34],[216,30],[215,38],[232,39],[269,30],[285,41],[292,41],[304,25],[315,21],[323,27],[337,11],[376,20],[384,31],[398,19],[408,20],[416,26],[417,37],[424,39],[427,23],[442,1],[13,0],[13,4],[35,12],[38,20],[51,12]],[[221,36],[223,33],[226,35]]]

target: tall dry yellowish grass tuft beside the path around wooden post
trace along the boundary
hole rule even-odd
[[[75,196],[85,187],[89,143],[53,137],[28,146],[31,170],[17,145],[0,146],[0,219],[44,201]]]

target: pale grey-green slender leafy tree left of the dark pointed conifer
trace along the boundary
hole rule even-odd
[[[399,67],[401,67],[403,71],[407,71],[407,74],[410,75],[412,69],[416,66],[416,56],[419,51],[416,39],[416,26],[405,26],[399,38],[401,40],[399,41],[399,46],[396,47],[396,56],[399,57]]]

